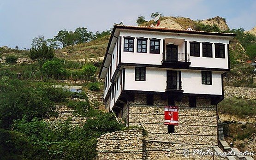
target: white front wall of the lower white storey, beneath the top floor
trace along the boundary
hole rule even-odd
[[[125,90],[165,92],[167,69],[146,68],[146,81],[135,81],[135,67],[125,67]],[[178,70],[175,70],[178,71]],[[202,84],[201,71],[180,70],[183,93],[221,95],[221,72],[212,71],[212,85]]]

